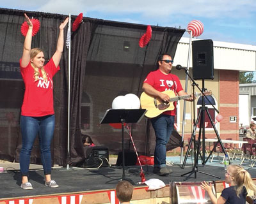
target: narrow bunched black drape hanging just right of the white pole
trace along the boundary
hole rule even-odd
[[[84,18],[75,33],[72,33],[71,49],[71,84],[70,84],[70,156],[68,163],[77,163],[84,159],[81,136],[81,103],[83,81],[86,70],[88,49],[97,28],[97,20]],[[67,137],[65,137],[67,138]]]

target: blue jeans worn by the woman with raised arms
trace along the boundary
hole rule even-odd
[[[39,136],[44,174],[51,174],[51,142],[54,134],[54,126],[54,115],[45,115],[42,117],[21,115],[20,129],[22,135],[22,148],[20,150],[20,171],[22,176],[28,176],[30,155],[36,135]]]

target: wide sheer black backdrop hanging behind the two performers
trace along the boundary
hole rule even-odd
[[[45,59],[56,50],[59,25],[67,17],[51,13],[0,8],[0,159],[19,162],[21,136],[20,107],[24,83],[19,71],[24,36],[20,26],[24,13],[40,20],[40,31],[32,47],[44,50]],[[76,16],[72,16],[72,22]],[[95,145],[116,154],[122,149],[121,129],[99,124],[116,96],[133,93],[140,97],[147,74],[156,69],[162,52],[175,56],[184,29],[152,26],[152,39],[144,48],[138,42],[147,25],[83,18],[72,33],[70,81],[70,155],[67,153],[68,49],[64,48],[59,71],[54,77],[56,128],[52,142],[52,163],[62,166],[84,159],[82,138],[90,135]],[[65,30],[65,38],[67,29]],[[132,137],[140,154],[154,153],[154,131],[147,119],[132,124]],[[133,150],[125,134],[125,149]],[[36,140],[31,163],[40,164]]]

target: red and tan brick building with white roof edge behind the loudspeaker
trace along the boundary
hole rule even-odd
[[[181,38],[174,58],[173,66],[181,64],[187,66],[188,64],[188,50],[189,38]],[[205,88],[211,90],[212,102],[215,104],[220,115],[223,116],[221,122],[217,122],[216,115],[211,105],[208,106],[209,113],[216,128],[220,134],[221,139],[232,138],[232,140],[239,140],[239,72],[240,71],[255,71],[256,70],[256,46],[242,45],[236,43],[226,43],[220,41],[213,42],[213,59],[214,59],[214,79],[205,80]],[[192,76],[192,52],[189,61],[189,73]],[[186,74],[184,71],[173,68],[172,73],[178,75],[185,87]],[[202,80],[196,80],[199,87],[202,88]],[[191,82],[188,81],[188,93],[191,93]],[[197,90],[197,92],[199,92]],[[209,96],[208,96],[209,97]],[[196,99],[197,118],[199,98]],[[177,130],[182,133],[183,120],[183,102],[178,105],[177,109]],[[193,131],[193,103],[186,103],[186,117],[184,128],[184,140],[191,136]],[[216,134],[211,127],[209,119],[205,118],[205,137],[215,138]]]

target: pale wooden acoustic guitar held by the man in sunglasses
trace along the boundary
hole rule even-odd
[[[152,97],[145,92],[143,92],[140,96],[140,104],[141,108],[146,109],[147,112],[145,115],[149,118],[157,117],[163,112],[166,112],[168,110],[173,110],[174,101],[179,101],[181,99],[188,99],[190,98],[190,95],[184,95],[184,96],[176,96],[175,93],[171,90],[163,91],[164,94],[167,94],[170,97],[169,103],[164,103],[161,98]],[[209,96],[212,94],[211,91],[205,91],[205,96]],[[196,93],[195,96],[201,96],[202,93]]]

